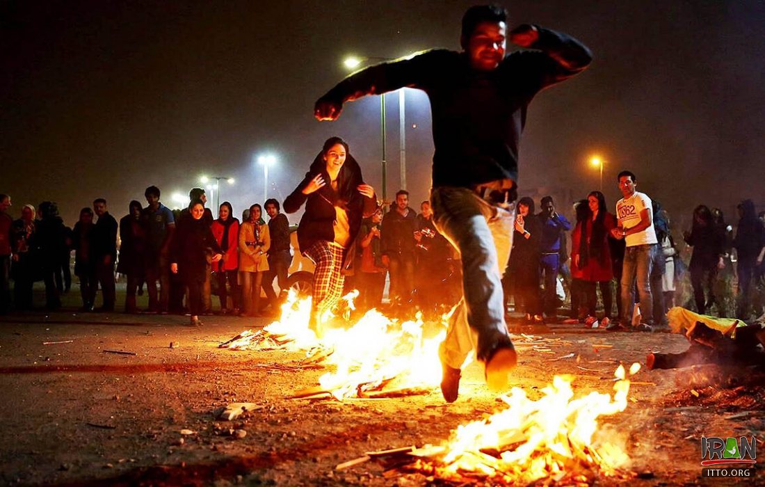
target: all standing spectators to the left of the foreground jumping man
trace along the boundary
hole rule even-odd
[[[24,205],[21,217],[14,220],[9,214],[11,197],[0,196],[3,313],[33,309],[32,291],[38,281],[44,282],[45,309],[60,309],[60,297],[71,287],[72,254],[82,312],[114,312],[119,276],[125,280],[121,311],[187,313],[193,325],[201,324],[200,315],[213,312],[213,296],[220,299],[216,312],[241,316],[273,315],[285,297],[297,249],[288,218],[273,198],[265,201],[265,211],[252,204],[240,222],[228,201],[220,204],[213,219],[202,188],[191,189],[190,204],[179,211],[162,204],[161,191],[150,186],[145,190],[147,204],[130,201],[119,224],[109,214],[106,199],[98,198],[92,208],[80,210],[70,228],[54,202],[44,201],[37,208]],[[385,217],[378,205],[371,217],[363,218],[350,244],[356,252],[344,287],[360,289],[360,309],[382,305],[388,273],[392,302],[402,311],[415,306],[443,311],[458,299],[459,282],[451,277],[457,272],[455,256],[435,229],[430,203],[423,201],[422,213],[417,214],[408,198],[406,191],[399,191],[395,208]],[[450,286],[448,293],[439,284]],[[148,307],[138,309],[136,296],[144,288]],[[99,289],[102,302],[96,308]]]

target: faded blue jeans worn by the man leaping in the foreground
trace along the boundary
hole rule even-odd
[[[436,228],[462,259],[463,297],[439,349],[445,364],[462,368],[470,351],[486,361],[497,344],[510,343],[501,278],[513,247],[515,204],[500,208],[454,187],[434,188],[431,204]]]

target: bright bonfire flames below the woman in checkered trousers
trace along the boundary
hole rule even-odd
[[[358,294],[343,296],[340,307],[346,317],[355,309],[353,299]],[[338,400],[394,379],[398,387],[433,387],[441,381],[438,345],[446,336],[445,323],[426,333],[419,313],[413,321],[398,322],[372,309],[350,328],[328,328],[320,340],[308,328],[310,312],[311,298],[298,299],[291,292],[278,321],[261,332],[247,330],[222,346],[304,351],[309,358],[321,355],[334,371],[322,375],[319,384]],[[331,313],[322,316],[324,322],[332,319]]]

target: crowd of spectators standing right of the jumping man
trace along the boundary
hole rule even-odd
[[[712,309],[718,315],[729,314],[715,295],[722,270],[734,275],[737,283],[737,318],[765,312],[765,217],[757,215],[753,201],[738,204],[735,236],[718,208],[710,210],[703,204],[695,208],[692,228],[682,234],[691,254],[686,264],[661,204],[636,191],[633,172],[621,172],[618,185],[623,198],[615,205],[616,214],[610,213],[601,191],[591,191],[575,202],[573,227],[555,211],[549,196],[540,201],[538,214],[532,198],[518,201],[513,252],[503,284],[508,306],[512,298],[526,323],[558,319],[563,287],[570,295],[569,321],[609,330],[666,330],[666,312],[675,304],[701,314]],[[565,243],[568,230],[570,250]],[[693,299],[675,303],[686,271]],[[598,291],[601,315],[596,314]]]

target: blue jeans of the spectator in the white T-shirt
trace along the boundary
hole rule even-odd
[[[640,314],[643,322],[653,323],[653,296],[649,276],[651,274],[651,247],[653,244],[627,247],[624,251],[621,279],[622,325],[632,322],[633,287],[637,280],[637,293],[640,296]]]

